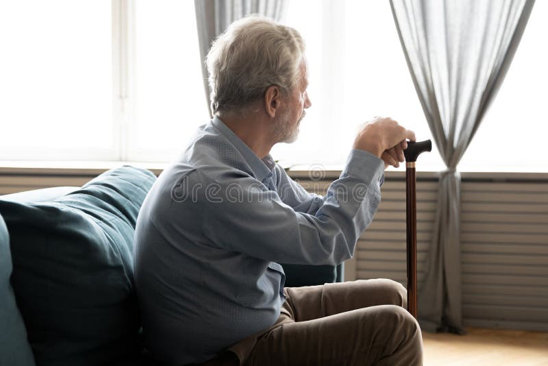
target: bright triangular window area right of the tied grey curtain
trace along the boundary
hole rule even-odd
[[[548,1],[535,1],[506,78],[461,171],[548,172]]]

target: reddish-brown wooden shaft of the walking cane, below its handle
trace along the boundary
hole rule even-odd
[[[406,169],[407,208],[407,305],[416,318],[416,169],[414,163]]]

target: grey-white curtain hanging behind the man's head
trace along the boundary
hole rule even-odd
[[[261,14],[275,21],[282,21],[287,9],[287,0],[195,0],[194,3],[202,61],[203,87],[206,90],[208,110],[212,117],[208,69],[204,62],[211,43],[216,36],[225,32],[232,22],[249,14]]]

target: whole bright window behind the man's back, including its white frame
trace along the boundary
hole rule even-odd
[[[0,3],[0,160],[175,158],[209,119],[193,1]]]

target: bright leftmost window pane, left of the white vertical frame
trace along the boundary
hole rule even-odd
[[[113,155],[108,1],[0,2],[0,159]]]

